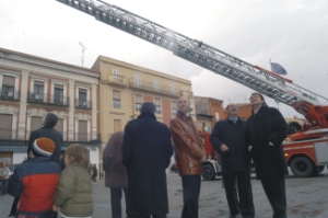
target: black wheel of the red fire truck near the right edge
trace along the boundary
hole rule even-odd
[[[291,170],[298,177],[308,177],[313,173],[314,164],[308,158],[297,157],[292,160]]]

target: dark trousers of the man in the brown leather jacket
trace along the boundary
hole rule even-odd
[[[183,175],[184,209],[181,218],[198,218],[200,175]]]

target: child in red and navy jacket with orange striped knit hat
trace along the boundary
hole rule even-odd
[[[38,138],[33,142],[30,160],[20,164],[9,180],[8,193],[20,197],[16,217],[49,218],[54,216],[52,197],[60,169],[50,161],[55,142]]]

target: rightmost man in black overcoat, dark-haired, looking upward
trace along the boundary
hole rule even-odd
[[[284,175],[289,172],[282,149],[286,123],[277,108],[267,106],[260,93],[253,93],[249,101],[253,111],[246,123],[246,137],[256,176],[271,204],[273,218],[286,218]]]

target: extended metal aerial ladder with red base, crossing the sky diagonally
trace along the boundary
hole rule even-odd
[[[173,51],[174,55],[199,65],[218,74],[244,84],[259,93],[294,107],[309,122],[306,128],[290,136],[304,140],[305,130],[328,128],[328,99],[306,90],[292,80],[263,68],[253,66],[239,58],[189,38],[150,20],[101,0],[57,0],[96,20]],[[311,135],[320,137],[323,133]]]

